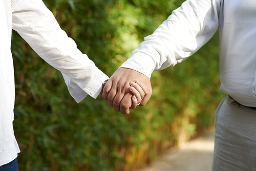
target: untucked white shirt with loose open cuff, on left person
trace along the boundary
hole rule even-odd
[[[61,30],[41,0],[0,1],[0,166],[17,157],[19,148],[13,134],[14,70],[11,31],[14,29],[33,50],[61,71],[72,97],[80,102],[88,94],[96,98],[108,79]]]

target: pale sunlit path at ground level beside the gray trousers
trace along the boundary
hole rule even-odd
[[[214,152],[214,130],[170,152],[140,171],[210,171]]]

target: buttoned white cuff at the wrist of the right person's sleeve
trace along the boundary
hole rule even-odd
[[[155,66],[155,61],[151,56],[148,56],[142,52],[136,52],[129,59],[127,59],[120,68],[133,69],[150,78]]]

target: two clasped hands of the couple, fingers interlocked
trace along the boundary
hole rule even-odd
[[[151,95],[150,79],[127,68],[119,68],[102,89],[103,99],[122,114],[129,114],[137,104],[144,106]]]

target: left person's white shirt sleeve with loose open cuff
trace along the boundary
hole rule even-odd
[[[42,59],[61,71],[77,102],[88,94],[93,98],[99,95],[102,82],[109,77],[77,49],[75,41],[61,30],[41,0],[16,0],[12,6],[12,28]]]

